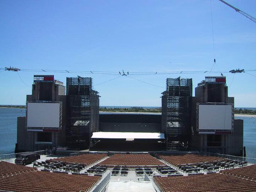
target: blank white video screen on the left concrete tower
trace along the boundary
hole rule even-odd
[[[28,103],[28,127],[60,127],[60,103]]]

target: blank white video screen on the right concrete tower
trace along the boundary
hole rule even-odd
[[[199,129],[232,129],[231,105],[199,105]]]

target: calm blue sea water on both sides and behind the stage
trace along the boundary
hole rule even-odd
[[[107,107],[107,106],[102,106]],[[114,106],[108,106],[114,108]],[[117,108],[118,106],[115,106]],[[128,108],[128,107],[123,107]],[[146,107],[144,107],[146,108]],[[156,108],[156,107],[147,107]],[[17,117],[25,116],[25,109],[0,108],[0,154],[14,153],[17,142]],[[256,157],[256,118],[235,116],[244,120],[244,146],[247,157]]]

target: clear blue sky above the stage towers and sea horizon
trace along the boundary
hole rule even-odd
[[[227,0],[256,17],[255,0]],[[217,66],[213,71],[256,69],[256,23],[212,0]],[[0,68],[129,72],[202,71],[213,66],[210,0],[0,1]],[[170,63],[171,62],[171,63]],[[256,72],[250,72],[256,75]],[[34,74],[92,77],[99,84],[118,75],[45,72],[0,73],[0,105],[25,105]],[[209,75],[209,74],[207,74]],[[216,75],[216,74],[213,74]],[[220,74],[217,74],[220,75]],[[224,74],[230,86],[233,74]],[[205,74],[134,75],[165,87],[166,78]],[[256,107],[256,77],[235,74],[229,96],[235,107]],[[129,77],[94,86],[101,106],[161,106],[163,88]]]

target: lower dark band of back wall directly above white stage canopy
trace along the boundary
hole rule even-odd
[[[161,123],[100,123],[100,131],[160,132]]]

